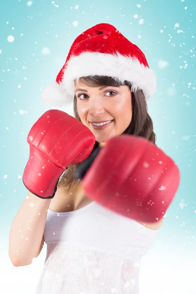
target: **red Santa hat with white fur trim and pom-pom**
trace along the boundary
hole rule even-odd
[[[143,90],[146,100],[156,90],[156,76],[149,68],[144,53],[113,25],[98,24],[74,40],[56,82],[42,93],[44,103],[54,106],[71,104],[74,80],[92,75],[129,81],[132,91]]]

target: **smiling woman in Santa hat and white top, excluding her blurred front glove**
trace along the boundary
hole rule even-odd
[[[75,119],[51,110],[28,135],[30,156],[23,180],[29,193],[12,223],[9,256],[14,266],[25,266],[47,244],[36,294],[139,293],[141,258],[164,218],[147,223],[115,213],[92,201],[74,174],[95,149],[104,149],[122,134],[143,137],[155,146],[147,112],[155,84],[142,51],[114,26],[99,24],[75,39],[56,83],[44,91],[44,100],[58,105],[72,99]],[[53,152],[54,144],[58,149]],[[95,171],[95,182],[98,176]]]

